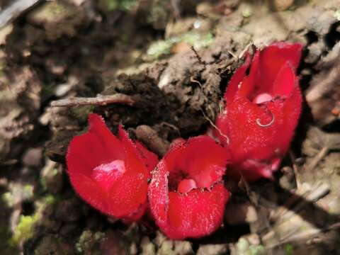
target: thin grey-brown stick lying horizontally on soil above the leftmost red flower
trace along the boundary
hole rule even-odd
[[[125,94],[114,94],[109,96],[96,96],[94,98],[66,98],[57,101],[52,101],[52,107],[63,107],[63,106],[106,106],[111,103],[121,103],[128,106],[133,106],[136,103],[135,98]]]

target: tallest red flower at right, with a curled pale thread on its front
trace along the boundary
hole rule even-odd
[[[242,173],[246,180],[255,181],[271,178],[278,169],[301,112],[295,75],[301,50],[298,43],[278,42],[256,51],[252,62],[246,55],[229,81],[225,111],[216,120],[220,132],[215,130],[220,142],[229,145],[229,176],[239,179]]]

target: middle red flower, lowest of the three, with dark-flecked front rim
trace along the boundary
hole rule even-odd
[[[220,227],[229,198],[221,183],[226,155],[208,136],[180,140],[152,171],[149,206],[168,237],[203,237]]]

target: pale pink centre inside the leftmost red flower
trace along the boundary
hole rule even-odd
[[[109,191],[114,181],[125,173],[125,164],[123,160],[113,160],[107,164],[101,164],[92,171],[92,177],[103,188]]]

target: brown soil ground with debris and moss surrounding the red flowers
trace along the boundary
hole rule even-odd
[[[171,241],[73,191],[64,157],[88,113],[161,156],[208,129],[244,52],[275,41],[305,46],[300,124],[273,181],[237,189],[217,232]],[[1,254],[340,254],[339,77],[339,0],[42,1],[0,30]]]

